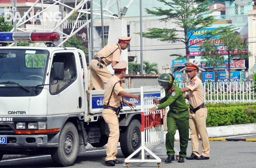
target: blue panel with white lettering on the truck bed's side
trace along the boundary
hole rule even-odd
[[[147,98],[147,97],[160,97],[160,96],[161,96],[160,93],[144,94],[144,98]],[[104,106],[103,98],[104,98],[103,96],[92,97],[92,109],[103,108],[103,106]],[[137,106],[140,105],[140,102],[138,102],[135,98],[123,97],[123,99],[126,99],[126,100],[128,100],[130,102],[133,102]]]

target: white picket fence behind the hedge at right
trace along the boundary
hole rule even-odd
[[[177,83],[177,81],[175,81]],[[185,88],[189,81],[180,82],[177,85]],[[254,81],[214,81],[204,82],[204,103],[254,103],[256,95],[253,91]],[[186,99],[186,102],[188,100]]]

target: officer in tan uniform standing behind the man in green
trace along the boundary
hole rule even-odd
[[[199,68],[192,62],[185,62],[187,77],[190,78],[190,85],[180,88],[186,99],[190,100],[190,136],[192,140],[192,154],[186,159],[204,160],[209,159],[210,144],[206,130],[207,109],[204,105],[204,87],[202,81],[197,77]],[[199,135],[202,140],[202,154],[199,153]]]

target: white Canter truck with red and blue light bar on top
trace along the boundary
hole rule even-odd
[[[107,144],[104,90],[88,90],[90,73],[81,50],[46,43],[58,38],[57,33],[0,33],[0,160],[5,154],[51,154],[57,166],[70,166],[88,143]],[[15,41],[48,47],[4,46]],[[140,94],[140,88],[124,91]],[[148,88],[144,96],[160,97],[160,89]],[[137,106],[124,106],[120,113],[126,157],[141,145],[140,102],[128,100]]]

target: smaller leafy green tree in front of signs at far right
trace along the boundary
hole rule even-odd
[[[233,29],[234,31],[235,29]],[[200,46],[202,51],[202,58],[207,61],[206,66],[220,66],[225,65],[225,55],[228,55],[228,73],[230,81],[230,59],[232,58],[242,58],[248,59],[251,56],[251,52],[244,51],[248,49],[248,42],[246,39],[242,38],[240,33],[237,31],[229,31],[226,34],[220,35],[213,39],[207,39]],[[216,43],[217,42],[217,43]]]

